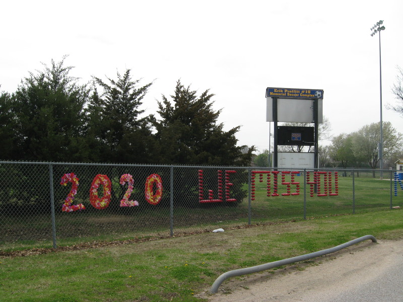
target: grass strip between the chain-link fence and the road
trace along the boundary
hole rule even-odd
[[[4,301],[203,301],[223,272],[339,245],[364,235],[403,239],[403,212],[381,210],[160,239],[0,258]],[[225,288],[226,282],[222,285]]]

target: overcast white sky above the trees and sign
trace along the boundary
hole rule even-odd
[[[322,89],[333,134],[379,122],[379,37],[383,104],[403,67],[403,1],[4,1],[0,4],[1,91],[15,92],[41,62],[115,78],[132,70],[155,80],[143,109],[153,113],[176,81],[215,94],[225,129],[241,125],[239,144],[268,148],[266,87]],[[403,132],[403,117],[383,109]]]

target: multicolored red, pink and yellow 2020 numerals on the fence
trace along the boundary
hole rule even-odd
[[[72,183],[72,188],[70,190],[70,193],[64,200],[64,204],[62,205],[61,210],[64,212],[84,210],[85,205],[82,203],[72,205],[74,197],[77,194],[79,178],[74,173],[64,174],[61,178],[60,185],[66,186],[69,182]],[[130,207],[139,205],[139,202],[137,200],[129,200],[131,192],[133,191],[133,177],[130,174],[123,174],[120,177],[119,183],[121,185],[127,183],[127,190],[124,193],[123,198],[120,200],[120,206]],[[157,187],[155,193],[153,190],[154,183]],[[103,187],[102,197],[98,196],[98,189],[100,186]],[[97,176],[95,176],[90,189],[90,202],[92,206],[99,210],[107,208],[111,199],[111,188],[112,183],[107,175],[98,174]],[[147,202],[150,204],[156,205],[160,202],[162,198],[162,179],[158,174],[151,174],[149,177],[147,177],[145,184],[145,197]]]

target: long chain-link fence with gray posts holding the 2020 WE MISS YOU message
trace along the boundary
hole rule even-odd
[[[401,206],[399,171],[0,162],[0,250]]]

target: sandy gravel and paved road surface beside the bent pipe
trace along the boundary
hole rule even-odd
[[[230,278],[219,293],[204,297],[211,302],[402,302],[403,241],[363,242],[314,263]]]

